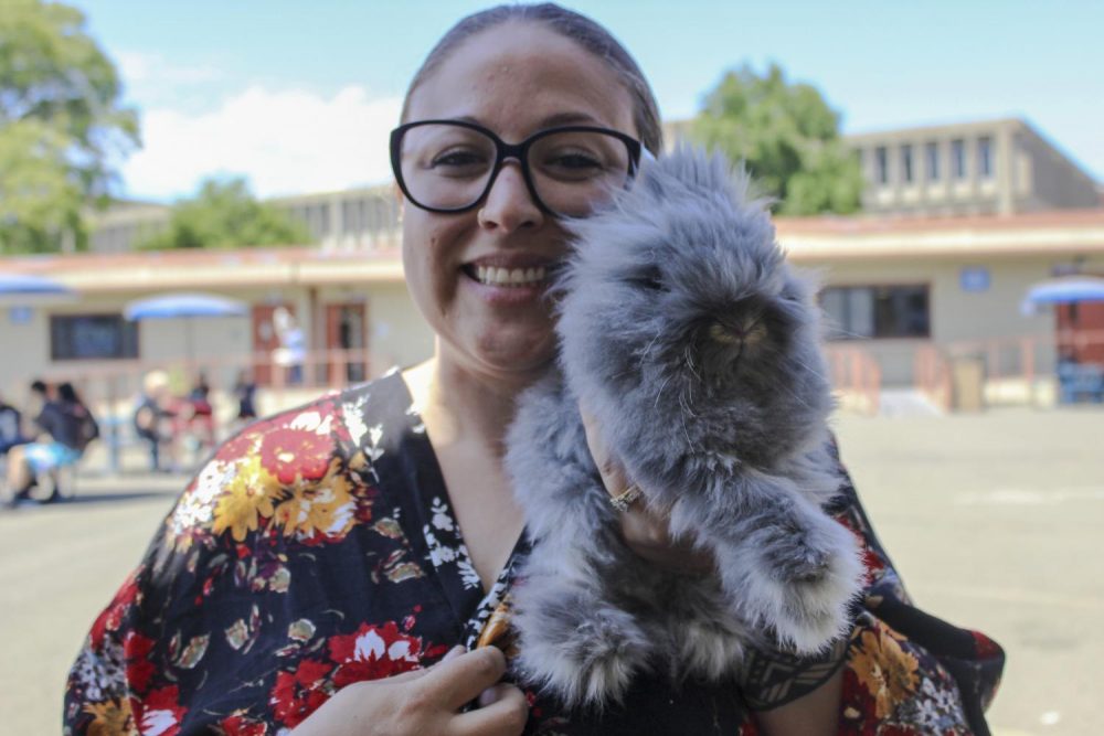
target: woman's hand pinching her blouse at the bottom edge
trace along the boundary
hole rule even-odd
[[[516,736],[529,705],[520,690],[499,682],[505,672],[495,647],[456,648],[427,670],[342,687],[293,736]],[[461,713],[476,697],[481,707]]]

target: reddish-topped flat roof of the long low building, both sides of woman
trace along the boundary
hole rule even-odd
[[[797,262],[1104,254],[1104,207],[972,217],[776,217]],[[401,282],[397,249],[309,247],[0,257],[86,294]]]

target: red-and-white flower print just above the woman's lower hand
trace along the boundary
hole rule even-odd
[[[394,621],[383,626],[361,623],[354,633],[331,637],[330,659],[338,665],[333,684],[390,678],[421,666],[422,640],[399,630]]]

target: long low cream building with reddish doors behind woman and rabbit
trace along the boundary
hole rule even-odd
[[[1061,332],[1081,330],[1104,349],[1104,305],[1084,305],[1076,322],[1061,310],[1021,312],[1028,288],[1057,273],[1104,275],[1104,209],[776,224],[790,260],[822,285],[830,352],[848,356],[836,366],[838,384],[854,385],[861,363],[877,378],[862,381],[875,387],[925,386],[932,371],[945,377],[955,361],[972,360],[984,364],[991,401],[1023,402],[1036,384],[1052,382]],[[308,376],[319,384],[411,365],[433,345],[394,248],[25,256],[4,258],[0,268],[46,275],[79,292],[78,300],[0,312],[0,343],[19,345],[0,362],[0,391],[20,390],[34,375],[134,376],[144,366],[179,363],[188,330],[191,364],[206,366],[216,383],[225,386],[252,366],[262,383],[278,384],[278,307],[302,327]],[[191,326],[123,318],[131,299],[194,290],[241,299],[250,311]]]

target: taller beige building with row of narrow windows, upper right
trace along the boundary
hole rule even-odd
[[[868,214],[1008,215],[1101,204],[1098,185],[1027,121],[851,135]]]

